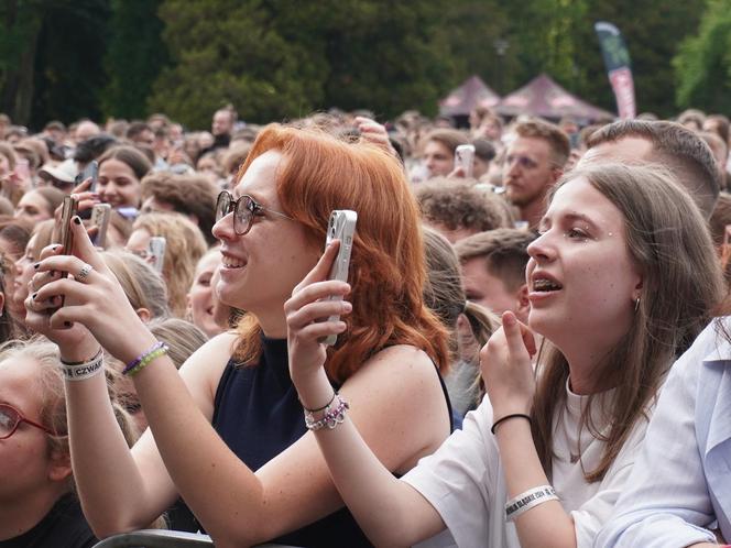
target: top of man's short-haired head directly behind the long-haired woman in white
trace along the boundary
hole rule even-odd
[[[596,161],[645,162],[668,168],[688,190],[706,219],[720,191],[710,147],[694,131],[668,121],[622,120],[594,131],[577,164]]]

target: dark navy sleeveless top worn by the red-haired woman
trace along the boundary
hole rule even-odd
[[[451,404],[440,375],[439,382],[451,427]],[[255,366],[237,368],[229,360],[216,391],[212,426],[254,472],[307,431],[290,379],[286,339],[262,337],[262,355]],[[347,507],[271,541],[302,547],[372,546]]]

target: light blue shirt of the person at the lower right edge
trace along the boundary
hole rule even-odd
[[[731,343],[714,321],[673,365],[628,489],[594,547],[731,541]],[[722,326],[731,336],[731,318]],[[718,524],[716,523],[718,522]]]

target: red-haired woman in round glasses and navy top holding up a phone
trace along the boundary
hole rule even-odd
[[[28,302],[33,328],[59,344],[67,363],[88,360],[99,344],[129,362],[150,423],[130,452],[113,426],[103,375],[67,383],[79,496],[99,536],[144,527],[182,495],[217,546],[368,544],[342,509],[288,374],[284,303],[318,263],[334,209],[356,210],[359,220],[353,306],[321,307],[352,308],[327,351],[332,386],[357,406],[352,419],[395,475],[449,435],[438,375],[447,333],[422,300],[418,211],[401,166],[372,145],[272,125],[254,143],[233,195],[219,196],[214,227],[222,255],[218,295],[249,315],[179,375],[77,219],[76,256],[50,248],[36,268],[37,292]],[[61,271],[73,277],[57,280],[53,272]],[[48,315],[62,295],[65,306]]]

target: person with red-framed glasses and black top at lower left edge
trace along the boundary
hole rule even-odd
[[[58,349],[0,349],[0,547],[86,548],[96,538],[76,495]]]

